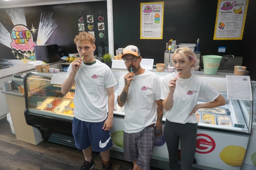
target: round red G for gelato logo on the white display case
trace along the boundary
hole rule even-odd
[[[199,154],[209,154],[215,149],[216,143],[212,137],[206,134],[197,134],[196,152]]]

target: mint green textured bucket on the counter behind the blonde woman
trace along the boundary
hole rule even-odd
[[[205,74],[217,74],[222,56],[203,56],[203,70]]]

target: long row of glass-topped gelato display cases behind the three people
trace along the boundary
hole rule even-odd
[[[120,76],[128,72],[124,69],[111,70],[117,83]],[[160,81],[165,75],[170,74],[157,72],[155,69],[153,72],[158,75]],[[193,168],[238,170],[241,168],[249,146],[255,114],[255,88],[252,88],[252,101],[228,99],[226,75],[234,75],[233,73],[215,75],[203,74],[201,71],[193,73],[205,79],[226,99],[224,106],[199,109],[196,113],[198,130],[196,162]],[[26,122],[28,125],[37,127],[46,141],[75,147],[71,123],[75,109],[73,103],[75,87],[73,86],[67,95],[61,94],[61,85],[51,84],[53,75],[45,72],[31,72],[24,78]],[[113,146],[110,149],[110,155],[112,158],[124,160],[122,138],[125,109],[117,104],[118,84],[114,86],[114,91],[114,118],[113,127],[110,130]],[[200,98],[198,102],[207,101]],[[165,113],[164,111],[162,130],[165,126]],[[151,166],[169,169],[169,156],[165,142],[161,146],[154,146]]]

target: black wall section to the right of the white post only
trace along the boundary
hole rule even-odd
[[[114,48],[138,46],[142,57],[153,58],[154,64],[163,63],[166,43],[196,43],[200,39],[201,55],[243,57],[243,66],[256,80],[255,39],[256,1],[250,0],[242,40],[213,40],[218,0],[166,0],[164,2],[163,39],[140,39],[140,3],[160,1],[113,0]],[[225,53],[218,47],[225,46]]]

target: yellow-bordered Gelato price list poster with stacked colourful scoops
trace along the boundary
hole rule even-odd
[[[141,39],[163,39],[164,2],[141,3]]]

